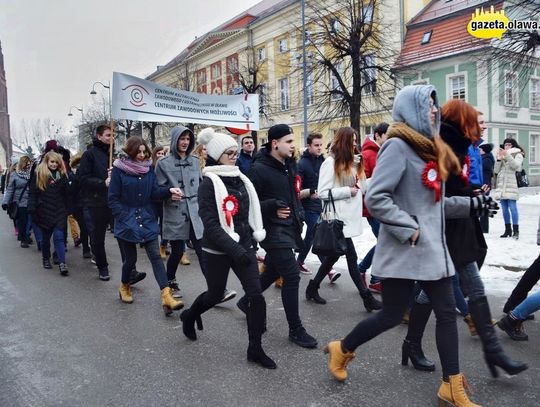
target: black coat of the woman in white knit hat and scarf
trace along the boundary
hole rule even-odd
[[[238,212],[233,216],[234,231],[240,236],[236,242],[221,227],[219,222],[214,184],[204,177],[199,185],[197,198],[199,200],[199,216],[204,224],[202,246],[204,248],[226,253],[232,259],[238,259],[248,249],[255,247],[253,231],[248,223],[249,195],[240,177],[220,177],[227,192],[238,200]]]

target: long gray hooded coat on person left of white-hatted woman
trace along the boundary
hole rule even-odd
[[[177,152],[178,139],[184,132],[191,137],[187,155],[180,158]],[[197,239],[202,239],[203,224],[199,217],[197,191],[201,180],[199,159],[191,155],[195,145],[195,136],[187,127],[177,126],[171,130],[170,154],[156,164],[156,176],[159,185],[169,188],[178,187],[184,192],[181,201],[170,198],[163,201],[163,239],[188,240],[190,226]]]

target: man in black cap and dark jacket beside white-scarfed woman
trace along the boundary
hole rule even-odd
[[[303,246],[304,215],[299,200],[300,176],[292,158],[294,149],[289,126],[270,127],[268,143],[257,154],[248,176],[257,190],[266,229],[266,239],[261,242],[266,250],[261,288],[264,291],[277,277],[283,277],[281,299],[289,323],[289,339],[299,346],[314,348],[317,340],[306,332],[298,312],[300,272],[294,250]]]

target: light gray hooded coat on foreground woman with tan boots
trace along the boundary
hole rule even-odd
[[[416,131],[431,139],[440,127],[440,116],[432,129],[431,85],[406,86],[394,100],[394,120],[387,134]],[[435,95],[435,105],[438,100]],[[426,162],[404,140],[391,137],[379,152],[377,166],[366,194],[370,213],[381,222],[373,269],[386,278],[434,281],[455,273],[446,246],[445,218],[468,217],[470,198],[448,197],[435,201],[434,191],[424,185]],[[444,193],[444,185],[442,185]],[[419,229],[416,246],[409,239]]]

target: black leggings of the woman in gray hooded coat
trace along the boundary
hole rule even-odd
[[[456,301],[452,278],[437,281],[419,281],[435,311],[437,325],[435,338],[441,360],[443,377],[459,373],[459,349],[456,326]],[[358,346],[401,323],[407,309],[414,280],[388,278],[382,281],[383,308],[362,320],[343,340],[343,347],[354,351]]]

